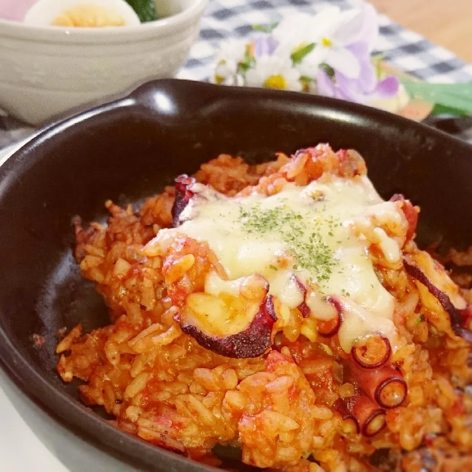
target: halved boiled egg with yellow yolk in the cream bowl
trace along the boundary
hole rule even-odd
[[[138,15],[124,0],[39,0],[26,13],[30,26],[100,28],[139,25]]]

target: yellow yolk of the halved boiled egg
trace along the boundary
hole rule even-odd
[[[125,21],[118,13],[97,5],[75,5],[63,11],[51,23],[53,26],[99,28],[124,26]]]

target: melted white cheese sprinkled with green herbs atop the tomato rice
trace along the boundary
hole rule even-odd
[[[346,315],[351,321],[344,320],[339,331],[343,349],[372,332],[393,340],[394,298],[379,281],[368,247],[374,242],[387,261],[398,261],[400,248],[383,228],[402,220],[367,177],[289,183],[269,197],[230,198],[198,183],[190,190],[195,196],[180,214],[181,225],[161,230],[150,244],[166,245],[175,234],[207,241],[230,280],[209,274],[207,293],[236,293],[231,281],[257,272],[269,282],[270,294],[290,309],[306,301],[315,318],[336,316],[324,295],[343,295],[360,305],[362,316]],[[370,225],[374,241],[356,236],[356,221]],[[306,297],[304,287],[311,289]]]

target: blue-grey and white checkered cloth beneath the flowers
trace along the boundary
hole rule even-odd
[[[210,0],[201,23],[200,38],[190,51],[189,59],[178,78],[208,80],[212,74],[214,52],[221,41],[249,38],[252,25],[269,25],[295,12],[315,13],[328,3],[341,8],[361,0]],[[392,0],[394,1],[394,0]],[[377,52],[383,53],[394,67],[431,82],[456,83],[472,81],[472,65],[451,52],[425,40],[421,35],[402,28],[388,17],[380,16]],[[30,132],[0,111],[0,148]]]

